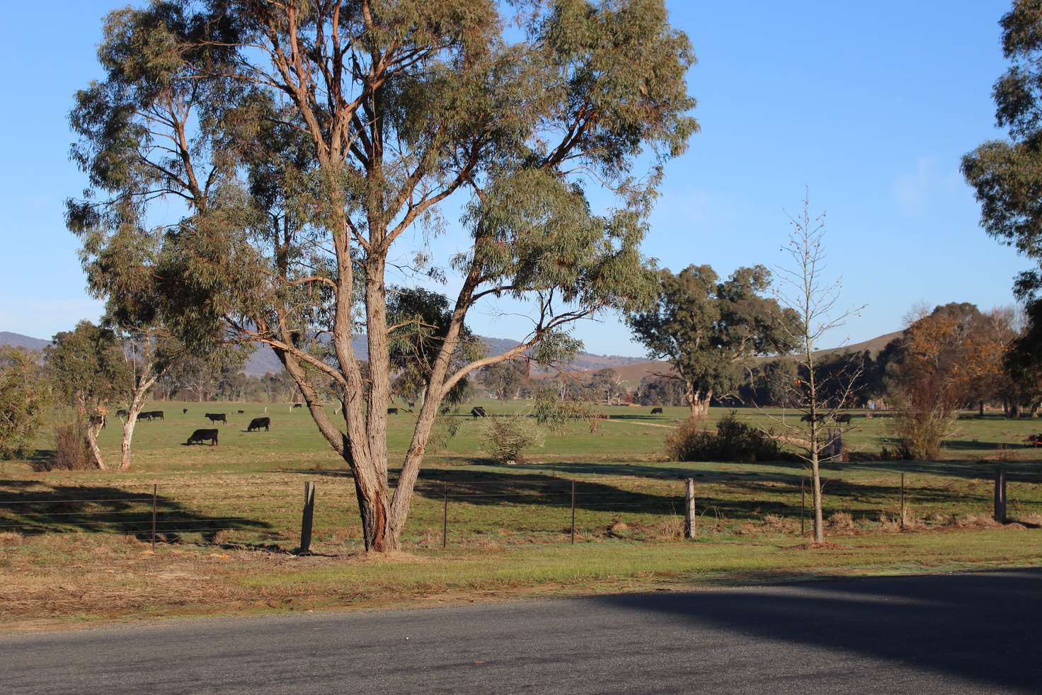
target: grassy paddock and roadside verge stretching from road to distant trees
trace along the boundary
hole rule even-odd
[[[483,404],[493,415],[527,406]],[[808,551],[799,536],[802,468],[663,461],[663,441],[684,408],[666,408],[662,417],[647,407],[607,408],[613,419],[596,432],[572,423],[510,467],[483,457],[479,423],[460,416],[458,436],[421,474],[405,554],[377,562],[361,554],[353,483],[311,417],[269,405],[272,430],[246,432],[264,407],[149,405],[167,419],[139,425],[128,473],[39,472],[46,451],[0,463],[0,615],[10,624],[31,624],[33,617],[382,605],[417,597],[617,591],[1042,559],[1042,531],[1034,530],[1042,522],[1036,451],[998,450],[1040,429],[1028,420],[960,421],[964,433],[949,444],[951,461],[826,466],[824,511],[834,545]],[[208,426],[207,412],[229,416],[219,425],[221,444],[185,446],[192,429]],[[714,409],[713,419],[726,412]],[[782,416],[739,411],[761,424]],[[390,418],[394,456],[404,452],[414,417]],[[855,422],[848,447],[877,450],[886,418]],[[119,427],[109,426],[101,443],[115,458]],[[46,449],[46,439],[40,446]],[[1020,522],[1004,527],[990,521],[995,462],[982,461],[997,454],[1012,460],[1004,462],[1010,515]],[[694,543],[679,540],[686,477],[696,483]],[[569,544],[573,480],[575,546]],[[291,553],[299,544],[304,481],[318,486],[317,554],[311,557]],[[154,554],[148,543],[153,487]]]

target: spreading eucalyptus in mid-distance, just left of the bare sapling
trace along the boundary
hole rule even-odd
[[[739,268],[723,281],[709,266],[663,270],[654,303],[629,315],[637,340],[652,358],[668,359],[687,387],[692,418],[708,415],[714,394],[736,389],[752,357],[792,344],[795,314],[766,296],[770,277],[764,266]]]

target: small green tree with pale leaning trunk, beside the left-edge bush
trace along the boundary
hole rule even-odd
[[[55,392],[75,408],[84,427],[95,467],[108,470],[98,432],[107,404],[119,398],[120,384],[129,378],[120,341],[111,329],[80,321],[74,330],[56,333],[44,354]]]

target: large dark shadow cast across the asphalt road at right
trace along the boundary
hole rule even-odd
[[[913,682],[909,672],[938,685],[943,682],[939,678],[958,678],[944,687],[947,690],[973,689],[965,681],[970,680],[990,689],[1034,692],[1042,682],[1037,641],[1029,638],[1042,621],[1038,569],[816,581],[712,594],[619,594],[589,600],[679,620],[696,636],[723,630],[719,638],[723,642],[747,643],[739,659],[750,661],[758,670],[773,670],[772,662],[803,662],[805,678],[833,673],[830,677],[844,679],[844,686],[819,682],[826,691],[864,687],[857,675],[861,669],[851,668],[850,657],[883,662],[866,665],[866,673],[887,673],[891,665],[900,666],[905,672],[898,677],[909,686]],[[815,671],[818,650],[842,652],[847,662],[836,671],[818,663],[823,670]],[[783,662],[775,662],[779,653],[785,654]],[[727,652],[727,657],[735,656]],[[747,686],[731,679],[745,677],[741,667],[703,666],[719,678],[703,687]]]

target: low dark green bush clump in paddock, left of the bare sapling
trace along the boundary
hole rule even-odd
[[[722,418],[716,431],[702,429],[689,420],[666,440],[673,461],[733,461],[755,463],[786,458],[771,432],[740,422],[735,413]]]

